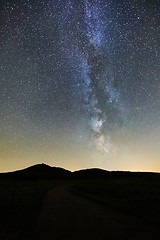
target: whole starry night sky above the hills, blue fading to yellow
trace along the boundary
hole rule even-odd
[[[160,171],[159,0],[0,3],[0,172]]]

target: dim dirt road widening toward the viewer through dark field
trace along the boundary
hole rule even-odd
[[[46,197],[34,239],[115,240],[151,239],[145,226],[123,213],[57,187]]]

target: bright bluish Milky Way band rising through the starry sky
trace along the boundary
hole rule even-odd
[[[67,18],[74,12],[74,1],[69,1]],[[114,112],[112,121],[122,123],[121,101],[118,96],[118,91],[114,87],[114,76],[112,73],[112,64],[109,60],[109,54],[105,51],[105,26],[103,23],[103,13],[99,1],[81,2],[82,25],[81,34],[77,30],[73,31],[72,38],[75,38],[75,43],[78,47],[78,54],[82,56],[81,65],[84,76],[84,86],[86,88],[86,107],[89,113],[89,124],[93,132],[93,140],[96,148],[106,153],[109,151],[110,136],[104,133],[110,121],[107,116],[111,116]],[[67,20],[65,14],[65,21]],[[68,22],[70,24],[70,21]],[[79,26],[79,21],[74,23]],[[79,30],[79,29],[78,29]],[[72,27],[71,30],[72,31]],[[72,40],[73,41],[73,40]]]

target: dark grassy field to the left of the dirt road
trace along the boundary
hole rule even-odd
[[[0,181],[0,239],[30,239],[45,194],[56,181]]]

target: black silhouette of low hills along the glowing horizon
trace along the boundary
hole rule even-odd
[[[0,179],[9,180],[63,180],[63,179],[102,179],[102,178],[156,178],[160,177],[159,173],[152,172],[123,172],[123,171],[107,171],[99,168],[82,169],[71,172],[60,167],[51,167],[44,163],[36,164],[22,170],[14,172],[0,173]]]

